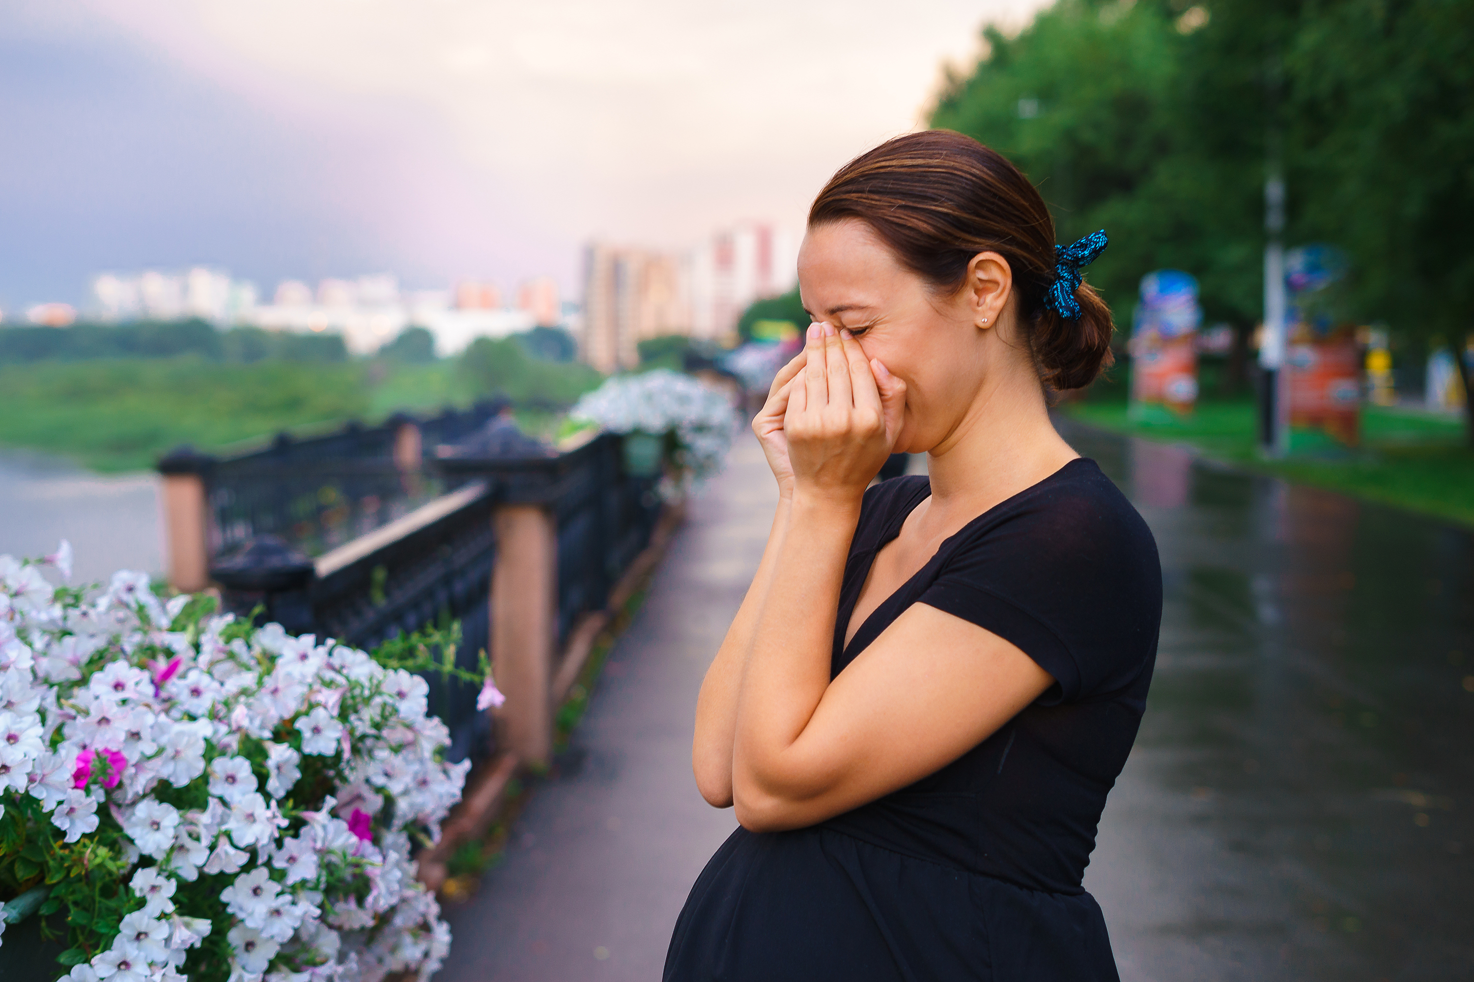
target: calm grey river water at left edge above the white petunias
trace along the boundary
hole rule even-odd
[[[41,557],[60,539],[75,551],[74,583],[115,570],[164,571],[158,476],[93,474],[68,461],[0,451],[0,555]]]

